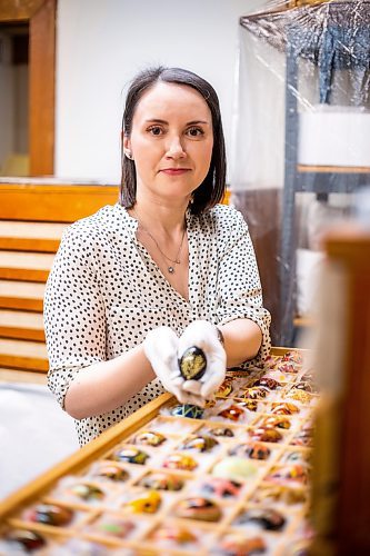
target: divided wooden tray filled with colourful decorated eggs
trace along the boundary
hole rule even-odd
[[[0,555],[302,554],[318,397],[279,348],[202,415],[163,395],[6,500]]]

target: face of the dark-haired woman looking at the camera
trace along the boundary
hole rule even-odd
[[[159,82],[136,107],[123,141],[137,171],[137,198],[188,202],[212,157],[211,111],[188,86]]]

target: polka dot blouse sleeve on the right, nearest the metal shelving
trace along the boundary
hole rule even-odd
[[[271,317],[262,306],[262,289],[248,225],[242,215],[233,211],[234,221],[221,255],[218,280],[218,324],[238,318],[256,322],[262,332],[262,344],[256,358],[240,367],[261,366],[270,353]]]

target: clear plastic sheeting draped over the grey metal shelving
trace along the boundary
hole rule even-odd
[[[250,226],[272,340],[289,346],[312,297],[297,249],[318,251],[370,185],[370,0],[270,2],[240,18],[239,37],[231,202]]]

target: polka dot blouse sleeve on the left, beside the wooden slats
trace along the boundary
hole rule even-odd
[[[48,386],[62,408],[78,373],[106,360],[104,306],[89,244],[73,226],[64,232],[44,296]]]

